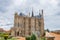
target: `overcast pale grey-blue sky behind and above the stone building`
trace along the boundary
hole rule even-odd
[[[0,0],[0,28],[9,30],[14,24],[14,13],[38,15],[44,10],[45,29],[60,29],[60,0]]]

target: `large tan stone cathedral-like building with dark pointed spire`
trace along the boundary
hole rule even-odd
[[[35,34],[36,36],[43,36],[44,34],[44,17],[43,10],[39,15],[34,16],[32,11],[32,15],[29,16],[24,15],[23,13],[15,13],[14,16],[14,27],[11,28],[12,36],[30,36]]]

